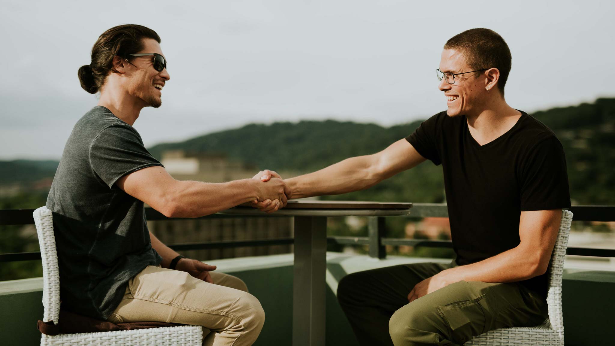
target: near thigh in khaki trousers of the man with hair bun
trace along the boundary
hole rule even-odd
[[[129,291],[114,311],[118,321],[196,324],[216,331],[264,318],[260,302],[248,292],[178,270],[149,266],[129,281]]]

